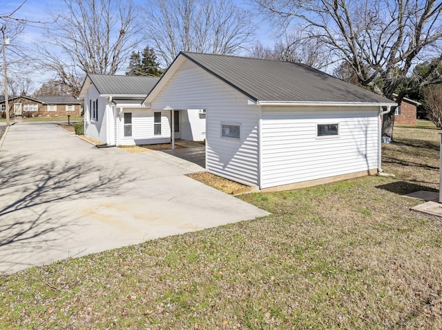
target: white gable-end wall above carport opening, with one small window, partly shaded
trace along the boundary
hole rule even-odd
[[[258,107],[190,61],[184,62],[151,103],[152,109],[206,109],[206,169],[258,185]],[[201,119],[200,119],[201,120]],[[240,123],[240,139],[222,138],[221,123]]]

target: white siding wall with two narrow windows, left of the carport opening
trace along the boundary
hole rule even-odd
[[[119,109],[118,109],[119,110]],[[124,112],[132,113],[132,136],[124,136]],[[153,134],[153,110],[147,108],[123,108],[117,112],[117,145],[144,145],[171,142],[171,113],[161,112],[161,135]]]

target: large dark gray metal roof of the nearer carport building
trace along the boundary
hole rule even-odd
[[[300,63],[191,52],[181,54],[253,101],[394,103]]]

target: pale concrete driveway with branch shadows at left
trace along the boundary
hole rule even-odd
[[[201,170],[13,125],[0,148],[0,273],[267,215],[184,175]]]

